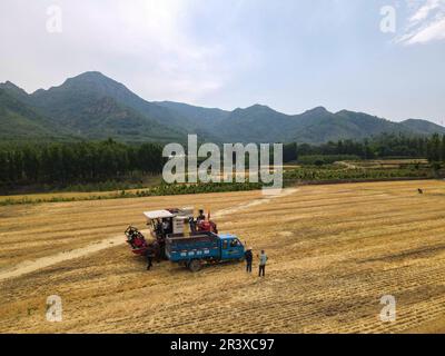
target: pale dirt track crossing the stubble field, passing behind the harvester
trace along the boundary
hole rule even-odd
[[[295,188],[283,189],[281,192],[278,195],[265,196],[263,198],[254,199],[246,204],[240,204],[233,208],[222,209],[220,211],[217,211],[212,216],[221,218],[224,216],[231,215],[234,212],[246,210],[254,206],[270,202],[273,199],[287,197],[287,196],[296,192],[297,190],[298,189],[295,189]],[[142,230],[141,233],[149,234],[149,230]],[[122,235],[119,235],[119,236],[103,239],[99,243],[93,243],[93,244],[87,245],[85,247],[66,250],[66,251],[62,251],[62,253],[59,253],[56,255],[38,258],[36,260],[27,260],[27,261],[23,261],[23,263],[20,263],[18,265],[13,266],[12,268],[0,270],[0,281],[2,281],[4,279],[9,279],[9,278],[17,278],[22,275],[36,271],[38,269],[42,269],[42,268],[46,268],[46,267],[49,267],[49,266],[52,266],[52,265],[56,265],[59,263],[63,263],[66,260],[81,258],[81,257],[88,256],[93,253],[98,253],[100,250],[103,250],[103,249],[107,249],[110,247],[123,245],[125,243],[126,243],[126,240],[123,239]]]

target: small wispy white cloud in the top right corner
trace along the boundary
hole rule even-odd
[[[411,46],[445,39],[445,0],[427,0],[421,6],[408,0],[407,4],[412,13],[396,42]]]

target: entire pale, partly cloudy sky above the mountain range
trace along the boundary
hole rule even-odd
[[[445,125],[445,0],[1,0],[0,82]]]

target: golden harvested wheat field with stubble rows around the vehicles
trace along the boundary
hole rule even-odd
[[[221,231],[266,249],[266,278],[243,264],[147,271],[122,233],[174,206],[211,209]],[[443,332],[444,211],[434,180],[1,207],[0,332]],[[46,320],[50,295],[61,323]],[[384,295],[395,323],[379,318]]]

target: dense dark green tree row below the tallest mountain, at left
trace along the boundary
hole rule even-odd
[[[115,179],[132,171],[162,170],[162,147],[103,142],[0,148],[0,184],[77,184]]]

